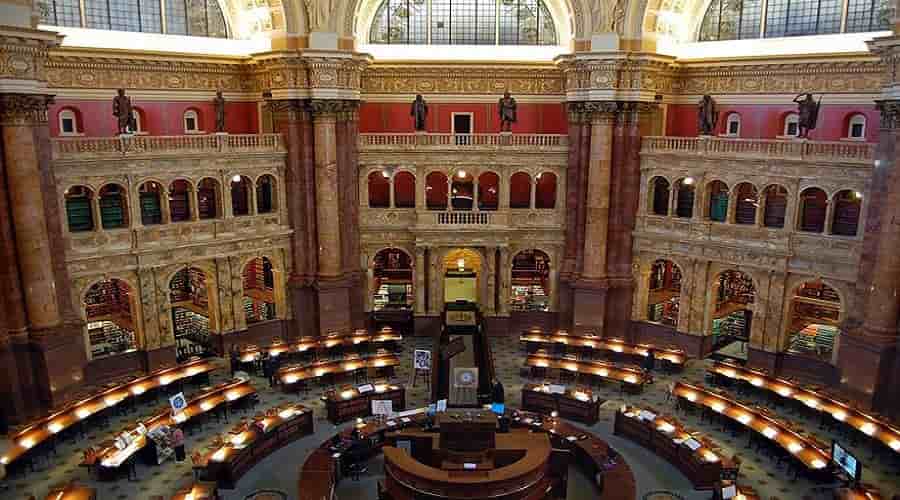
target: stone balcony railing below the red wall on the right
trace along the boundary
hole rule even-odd
[[[814,160],[871,165],[875,145],[865,142],[729,139],[718,137],[644,137],[641,153],[674,153],[751,159]]]

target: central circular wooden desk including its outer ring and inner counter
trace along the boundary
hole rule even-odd
[[[466,433],[463,444],[453,444],[448,453],[444,439],[423,429],[428,423],[424,409],[402,415],[385,422],[357,424],[340,433],[347,437],[356,430],[362,439],[371,441],[373,453],[384,454],[385,477],[378,484],[379,498],[546,498],[551,491],[559,491],[557,488],[565,491],[570,462],[596,479],[598,499],[636,498],[634,474],[621,455],[602,439],[566,421],[507,411],[509,431],[493,435],[486,453],[475,451],[483,450],[477,431]],[[463,449],[465,442],[473,444],[471,450]],[[333,444],[329,439],[307,457],[300,471],[301,500],[334,498],[346,464],[342,465],[342,453]]]

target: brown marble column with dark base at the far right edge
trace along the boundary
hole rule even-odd
[[[846,391],[900,415],[900,101],[881,101],[878,108],[881,129],[860,269],[865,306],[861,316],[851,313],[842,328],[838,367]]]

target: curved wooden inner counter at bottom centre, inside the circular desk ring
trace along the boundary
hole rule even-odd
[[[525,455],[506,467],[477,471],[444,470],[423,464],[405,451],[385,446],[385,490],[398,500],[422,495],[446,499],[544,498],[550,484],[552,447],[545,435],[528,432],[497,434],[496,450],[523,450]]]

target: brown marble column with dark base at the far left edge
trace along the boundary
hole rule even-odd
[[[3,161],[32,352],[32,399],[51,406],[84,378],[83,324],[74,313],[50,169],[50,96],[0,96]]]

